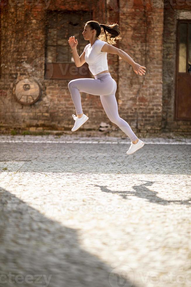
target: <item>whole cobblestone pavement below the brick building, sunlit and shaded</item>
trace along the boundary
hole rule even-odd
[[[191,140],[129,146],[0,136],[0,286],[191,286]]]

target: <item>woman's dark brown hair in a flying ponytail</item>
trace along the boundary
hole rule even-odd
[[[99,37],[99,40],[105,41],[108,44],[116,44],[116,40],[121,40],[121,34],[119,25],[117,23],[99,24],[97,21],[88,21],[86,25],[90,26],[91,30],[96,30],[95,37]],[[103,28],[103,30],[101,29]]]

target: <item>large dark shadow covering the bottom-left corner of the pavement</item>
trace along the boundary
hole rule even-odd
[[[2,188],[0,217],[1,286],[138,287],[83,250],[77,230]]]

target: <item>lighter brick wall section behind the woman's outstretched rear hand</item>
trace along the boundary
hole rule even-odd
[[[132,66],[120,60],[120,114],[140,132],[161,129],[163,4],[156,4],[135,0],[131,9],[126,6],[120,14],[121,49],[146,67],[145,75],[137,76]]]

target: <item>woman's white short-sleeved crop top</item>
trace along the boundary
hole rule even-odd
[[[105,45],[105,41],[95,40],[91,47],[91,43],[84,48],[85,60],[88,63],[89,70],[93,76],[108,70],[107,52],[101,52],[101,48]]]

